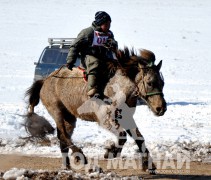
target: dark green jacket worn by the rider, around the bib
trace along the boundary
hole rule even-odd
[[[108,51],[111,50],[105,48],[104,46],[93,45],[95,31],[98,31],[103,34],[101,28],[92,23],[92,25],[86,29],[83,29],[74,40],[73,44],[70,46],[70,50],[67,56],[67,63],[74,64],[77,57],[81,56],[81,63],[84,65],[84,59],[86,55],[93,55],[99,59],[106,58]],[[112,39],[118,46],[117,41],[114,39],[113,33],[109,30],[108,34],[109,39]]]

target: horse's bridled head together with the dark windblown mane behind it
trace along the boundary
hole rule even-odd
[[[149,50],[141,50],[137,55],[127,47],[117,53],[119,68],[135,82],[138,96],[143,99],[157,116],[166,111],[163,95],[164,79],[160,73],[162,61],[155,65],[155,55]]]

